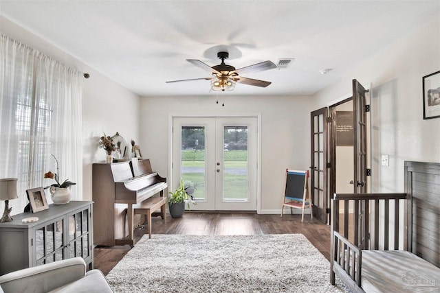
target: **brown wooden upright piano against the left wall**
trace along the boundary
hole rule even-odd
[[[166,178],[151,171],[148,159],[94,163],[92,177],[94,244],[133,246],[135,223],[142,220],[134,217],[134,209],[152,196],[164,196]]]

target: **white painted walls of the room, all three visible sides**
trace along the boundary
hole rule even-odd
[[[153,168],[168,176],[168,117],[261,113],[261,209],[279,211],[287,167],[309,167],[309,113],[351,91],[351,80],[373,85],[372,191],[403,191],[404,160],[440,161],[440,119],[423,120],[421,77],[440,70],[440,17],[356,67],[315,97],[234,97],[225,107],[206,97],[143,97],[0,16],[0,30],[66,65],[91,74],[84,81],[83,199],[91,199],[91,163],[103,162],[102,132],[135,139]],[[137,110],[140,109],[140,110]],[[390,155],[390,166],[379,165]]]

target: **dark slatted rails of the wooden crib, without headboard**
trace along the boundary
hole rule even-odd
[[[331,200],[331,274],[360,288],[362,250],[408,247],[408,194],[334,194]],[[403,220],[402,220],[403,218]]]

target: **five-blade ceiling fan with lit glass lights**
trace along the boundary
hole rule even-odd
[[[225,59],[229,58],[228,52],[221,51],[217,53],[217,57],[221,59],[221,64],[215,65],[213,67],[210,67],[209,65],[207,65],[204,62],[201,62],[200,60],[186,59],[186,61],[192,63],[193,65],[200,67],[201,69],[211,73],[212,77],[191,78],[189,80],[171,80],[168,81],[167,83],[187,82],[190,80],[210,80],[211,89],[213,91],[225,91],[225,90],[232,91],[235,88],[236,82],[239,82],[241,84],[248,84],[250,86],[260,86],[260,87],[266,87],[272,83],[272,82],[266,82],[264,80],[254,80],[252,78],[245,78],[242,75],[242,74],[274,69],[276,68],[276,65],[272,61],[264,61],[240,69],[235,69],[235,67],[225,64]]]

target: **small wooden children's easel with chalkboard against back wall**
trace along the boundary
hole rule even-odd
[[[311,209],[311,194],[309,189],[309,171],[298,171],[286,169],[285,192],[283,195],[283,206],[281,207],[281,218],[283,218],[284,207],[303,209],[301,222],[304,220],[304,210],[310,209],[310,217],[314,218]]]

